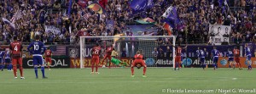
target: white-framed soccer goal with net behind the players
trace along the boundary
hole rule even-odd
[[[145,63],[148,67],[160,67],[160,64],[170,64],[170,67],[174,66],[173,55],[175,53],[175,36],[80,36],[80,68],[90,67],[91,50],[92,47],[100,44],[102,47],[100,64],[102,58],[105,55],[107,47],[112,46],[118,53],[115,58],[125,62],[127,67],[131,66],[134,55],[137,51],[143,53]],[[166,58],[166,47],[170,47],[172,53],[171,57],[168,57],[165,62],[157,61],[158,58]],[[157,51],[163,49],[164,53],[154,53],[155,48]],[[169,52],[170,53],[170,52]],[[103,64],[108,65],[110,60],[104,60]],[[111,64],[112,67],[117,67]]]

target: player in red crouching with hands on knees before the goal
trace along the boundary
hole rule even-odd
[[[137,53],[134,55],[134,60],[131,64],[131,77],[134,77],[134,66],[137,66],[138,69],[143,66],[143,77],[146,77],[145,74],[147,65],[145,64],[145,61],[143,60],[143,54],[140,51],[137,51]]]

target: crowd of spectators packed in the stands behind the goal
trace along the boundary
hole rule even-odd
[[[73,0],[68,14],[69,0],[1,0],[1,19],[12,19],[17,11],[20,11],[21,18],[15,20],[15,29],[0,20],[0,34],[5,43],[9,43],[13,36],[18,36],[20,41],[30,42],[35,35],[40,35],[46,43],[75,43],[79,42],[79,36],[114,36],[123,33],[127,23],[149,17],[160,28],[155,35],[163,36],[167,32],[162,27],[164,18],[161,15],[172,5],[177,7],[181,20],[172,30],[177,41],[207,42],[209,24],[231,25],[231,41],[256,41],[255,0],[228,0],[232,9],[222,8],[224,5],[219,6],[218,0],[153,0],[153,8],[137,14],[132,12],[129,1]],[[86,8],[93,2],[99,2],[107,14],[97,14]],[[52,12],[53,9],[57,11]],[[106,20],[113,20],[111,29],[107,28]],[[61,33],[46,33],[45,25],[54,25],[60,28]]]

